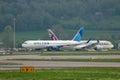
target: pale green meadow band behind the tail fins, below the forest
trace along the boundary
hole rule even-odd
[[[66,34],[68,39],[72,39],[76,34],[77,30],[65,30],[63,31]],[[64,35],[63,36],[66,36]],[[85,30],[82,39],[106,39],[109,36],[118,36],[119,31],[107,31],[107,30]],[[59,39],[62,39],[61,36],[56,35]],[[105,37],[107,36],[107,37]],[[2,37],[2,33],[0,34]],[[47,30],[42,31],[32,31],[32,32],[16,32],[16,40],[28,40],[28,39],[49,39]]]

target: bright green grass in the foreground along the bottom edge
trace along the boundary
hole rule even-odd
[[[120,68],[40,69],[31,73],[0,71],[0,80],[120,80]]]

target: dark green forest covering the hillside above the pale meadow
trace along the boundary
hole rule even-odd
[[[36,31],[57,25],[64,29],[120,30],[120,0],[0,0],[0,31]]]

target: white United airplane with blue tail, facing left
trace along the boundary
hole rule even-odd
[[[79,44],[81,37],[83,35],[84,28],[80,28],[77,32],[77,34],[74,36],[72,40],[27,40],[22,44],[22,47],[24,48],[32,48],[32,49],[58,49],[58,47],[63,46],[76,46]],[[51,39],[54,39],[53,36],[51,36]]]

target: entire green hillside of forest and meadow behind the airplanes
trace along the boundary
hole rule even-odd
[[[120,0],[0,0],[0,41],[6,26],[17,46],[27,39],[49,39],[52,29],[60,39],[72,39],[80,27],[83,39],[120,40]],[[9,28],[8,28],[9,29]],[[28,37],[29,36],[29,37]]]

